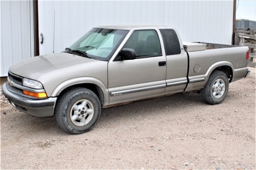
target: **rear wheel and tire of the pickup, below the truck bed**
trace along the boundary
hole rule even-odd
[[[214,71],[201,89],[202,100],[211,105],[224,101],[229,91],[229,79],[222,71]]]

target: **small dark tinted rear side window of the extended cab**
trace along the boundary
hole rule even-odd
[[[181,53],[179,38],[173,29],[160,29],[166,56]]]

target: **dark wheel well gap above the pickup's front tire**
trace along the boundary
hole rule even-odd
[[[69,86],[67,88],[65,88],[63,91],[61,91],[61,94],[59,94],[59,97],[66,93],[68,90],[70,90],[71,88],[77,88],[77,87],[81,87],[81,88],[87,88],[91,91],[93,91],[99,98],[99,100],[101,101],[101,106],[104,105],[105,103],[105,98],[104,98],[104,94],[103,94],[103,91],[101,90],[100,87],[98,87],[97,85],[95,84],[91,84],[91,83],[85,83],[85,84],[76,84],[76,85],[73,85],[73,86]],[[59,98],[58,97],[58,98]]]

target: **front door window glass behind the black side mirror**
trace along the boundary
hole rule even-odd
[[[160,41],[155,30],[134,31],[123,48],[134,49],[136,57],[162,55]]]

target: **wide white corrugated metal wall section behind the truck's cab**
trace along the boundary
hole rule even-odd
[[[148,23],[176,27],[183,41],[231,44],[233,0],[39,1],[40,54],[62,51],[93,26]]]

